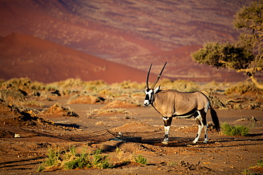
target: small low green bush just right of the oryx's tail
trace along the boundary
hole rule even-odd
[[[249,127],[245,125],[235,125],[231,126],[227,123],[222,123],[222,130],[224,135],[241,135],[248,136],[249,135]]]

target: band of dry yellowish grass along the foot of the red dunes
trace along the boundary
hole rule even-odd
[[[196,84],[193,81],[161,79],[156,86],[159,86],[159,84],[161,84],[161,89],[207,92],[214,108],[263,109],[263,103],[261,102],[263,91],[257,89],[250,81],[243,81],[231,86],[231,84],[217,83],[215,81],[208,84]],[[229,88],[229,86],[231,87]],[[124,105],[141,106],[144,98],[144,87],[145,83],[138,84],[131,81],[107,84],[100,80],[66,79],[65,81],[43,84],[37,81],[32,82],[28,78],[20,78],[0,81],[0,101],[12,102],[17,106],[42,106],[43,104],[41,103],[27,101],[27,99],[31,99],[32,96],[50,99],[53,98],[49,98],[52,92],[59,91],[61,96],[70,96],[68,103],[107,102],[109,104],[114,101],[122,101]],[[236,96],[237,94],[239,97]],[[236,102],[235,100],[240,98],[240,94],[245,94],[249,97],[242,98],[242,103]],[[118,108],[118,105],[120,104],[116,103],[114,106],[113,103],[109,108]],[[109,111],[100,112],[109,113]],[[119,111],[114,111],[114,113],[119,113]],[[69,115],[74,114],[69,113]]]

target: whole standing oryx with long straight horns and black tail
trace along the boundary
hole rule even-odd
[[[164,64],[163,69],[166,67],[166,63]],[[144,106],[149,106],[151,104],[151,106],[153,106],[155,110],[163,116],[165,136],[162,143],[164,145],[168,144],[168,134],[173,117],[191,118],[192,116],[195,118],[196,123],[198,123],[198,134],[196,135],[195,140],[193,140],[193,143],[198,142],[203,127],[205,127],[204,143],[208,142],[208,123],[206,121],[208,108],[210,108],[215,130],[217,130],[217,132],[220,131],[218,115],[210,105],[208,97],[200,91],[180,92],[172,89],[161,90],[161,85],[154,89],[154,86],[161,77],[163,69],[154,84],[151,88],[149,88],[149,74],[151,72],[150,66],[146,79],[146,97],[144,100]]]

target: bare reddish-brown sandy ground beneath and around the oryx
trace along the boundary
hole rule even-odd
[[[210,129],[209,142],[203,144],[203,135],[197,144],[192,141],[198,130],[193,119],[173,119],[170,144],[162,145],[163,121],[154,108],[125,108],[128,113],[89,115],[104,107],[103,104],[67,104],[68,98],[44,101],[45,106],[60,103],[70,106],[79,117],[61,113],[33,111],[18,113],[11,106],[0,104],[0,174],[240,174],[263,159],[263,111],[217,110],[220,122],[251,126],[249,137],[226,136]],[[38,108],[40,109],[40,108]],[[255,120],[247,120],[254,117]],[[43,118],[41,118],[43,117]],[[245,118],[245,120],[240,120]],[[50,122],[53,121],[53,122]],[[208,115],[208,121],[211,121]],[[132,140],[111,140],[122,132]],[[14,137],[14,135],[18,137]],[[47,157],[48,147],[69,147],[87,151],[102,148],[112,169],[49,170],[36,169]],[[116,148],[122,154],[116,152]],[[141,154],[148,164],[121,164],[134,154]],[[261,168],[249,171],[263,174]]]

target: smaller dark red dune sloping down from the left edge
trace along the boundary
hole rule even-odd
[[[0,78],[28,77],[51,82],[68,78],[107,83],[143,82],[146,72],[87,55],[30,35],[12,33],[0,40]]]

